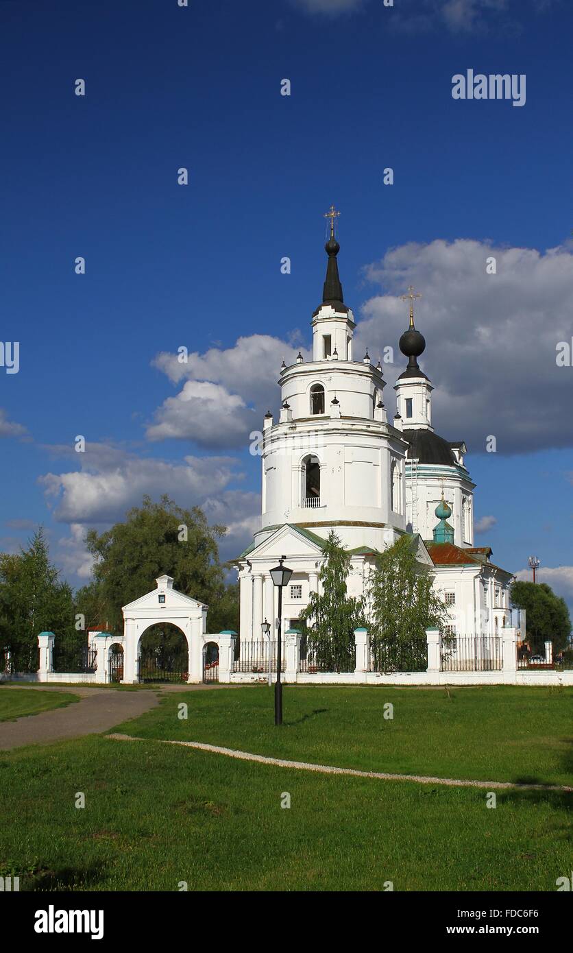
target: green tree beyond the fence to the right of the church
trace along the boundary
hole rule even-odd
[[[564,599],[556,596],[551,586],[516,580],[510,598],[514,608],[525,610],[528,639],[536,644],[552,641],[555,652],[565,648],[571,635],[571,618]]]

